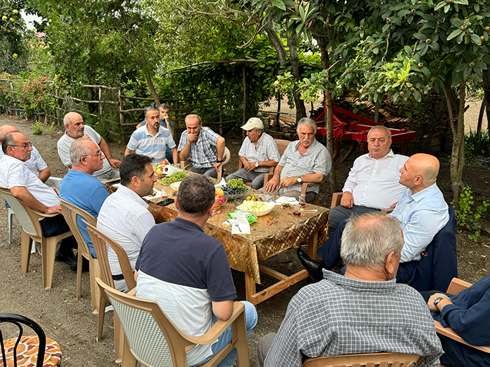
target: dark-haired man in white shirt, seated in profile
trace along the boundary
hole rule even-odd
[[[134,271],[141,243],[155,225],[148,204],[141,198],[153,193],[153,183],[157,178],[151,166],[151,158],[139,154],[127,155],[119,166],[119,172],[121,185],[102,204],[97,217],[97,229],[123,247]],[[129,292],[118,256],[109,246],[107,259],[114,287],[120,292]]]

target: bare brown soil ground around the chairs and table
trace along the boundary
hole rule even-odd
[[[286,103],[283,103],[286,104]],[[478,105],[479,107],[479,105]],[[272,106],[269,110],[274,110]],[[476,116],[477,116],[477,108]],[[473,120],[473,119],[471,119]],[[68,171],[59,160],[56,142],[63,131],[55,131],[52,136],[48,134],[32,134],[31,122],[19,120],[15,117],[0,115],[0,124],[13,124],[26,134],[41,152],[47,162],[52,175],[62,177]],[[484,124],[486,126],[486,124]],[[233,159],[225,166],[225,174],[232,173],[237,167],[237,152],[241,145],[239,136],[227,137],[227,146],[232,152]],[[125,147],[123,145],[109,144],[113,157],[121,159]],[[335,163],[339,187],[346,178],[358,157],[359,151],[353,154],[344,163]],[[440,154],[441,162],[438,185],[449,202],[451,200],[449,156]],[[464,181],[472,188],[476,201],[490,198],[490,159],[470,159],[465,167]],[[328,182],[321,186],[320,201],[322,206],[330,206],[332,192]],[[62,347],[63,366],[115,366],[113,361],[113,314],[106,313],[104,334],[97,343],[97,315],[90,312],[90,285],[88,273],[83,273],[82,299],[76,299],[76,273],[66,264],[55,264],[52,289],[43,290],[41,256],[33,254],[27,274],[20,273],[20,224],[14,217],[13,241],[8,243],[7,209],[0,206],[0,312],[13,312],[25,315],[41,324],[48,337],[57,340]],[[490,213],[484,213],[482,224],[490,227]],[[458,272],[459,278],[469,282],[476,282],[489,274],[490,269],[490,238],[482,236],[475,243],[468,239],[467,232],[457,233],[458,246]],[[306,244],[303,244],[305,247]],[[292,274],[300,270],[301,266],[295,256],[295,250],[287,250],[276,257],[268,259],[267,266],[277,271]],[[237,287],[238,299],[244,299],[244,276],[242,273],[232,271]],[[267,275],[262,277],[262,285],[258,290],[268,287],[274,282]],[[290,298],[297,291],[307,285],[307,280],[297,283],[286,291],[269,298],[258,305],[258,326],[250,339],[251,366],[258,366],[256,345],[259,338],[265,333],[275,332],[279,329],[286,312]]]

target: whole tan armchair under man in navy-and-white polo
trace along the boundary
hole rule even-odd
[[[195,345],[209,345],[232,325],[232,342],[214,355],[202,367],[216,366],[233,348],[237,348],[240,367],[248,367],[248,340],[246,338],[245,307],[235,302],[233,314],[227,321],[218,320],[202,336],[182,333],[162,311],[158,303],[137,298],[132,294],[116,291],[97,278],[102,292],[105,292],[118,314],[125,333],[122,367],[136,366],[137,360],[143,366],[186,367],[186,351]]]

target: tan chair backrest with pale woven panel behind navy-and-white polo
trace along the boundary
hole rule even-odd
[[[158,303],[130,296],[106,285],[97,284],[109,298],[123,326],[132,354],[144,366],[186,366],[186,348],[192,347]],[[190,349],[190,348],[189,348]]]

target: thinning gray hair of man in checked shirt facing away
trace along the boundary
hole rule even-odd
[[[342,233],[340,257],[344,264],[379,271],[390,252],[400,256],[403,243],[397,219],[380,213],[353,216]]]

